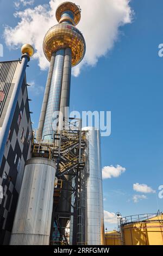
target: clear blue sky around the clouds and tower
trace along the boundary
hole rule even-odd
[[[163,202],[158,198],[158,187],[163,184],[163,58],[158,56],[163,43],[163,2],[132,0],[130,7],[133,22],[120,28],[112,50],[96,66],[83,67],[78,77],[72,76],[70,106],[78,111],[111,111],[111,136],[102,137],[102,167],[120,164],[126,172],[103,181],[104,209],[123,216],[162,210]],[[20,50],[9,50],[2,36],[4,25],[17,25],[14,12],[11,1],[0,0],[0,44],[4,46],[0,61],[21,57]],[[29,65],[27,82],[35,83],[29,97],[36,128],[47,71],[40,70],[37,60]],[[146,184],[156,193],[136,192],[135,183]],[[135,194],[147,199],[134,203]],[[105,225],[109,230],[116,226]]]

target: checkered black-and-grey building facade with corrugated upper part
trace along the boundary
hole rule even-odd
[[[0,63],[0,131],[20,71],[20,60]],[[0,244],[8,245],[24,165],[31,155],[33,131],[29,112],[26,75],[18,95],[14,117],[0,168]]]

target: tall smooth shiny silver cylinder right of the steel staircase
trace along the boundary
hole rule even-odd
[[[86,131],[87,159],[86,243],[105,245],[100,132],[94,127],[83,130]]]

